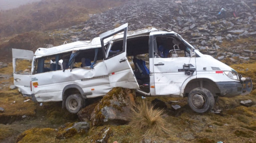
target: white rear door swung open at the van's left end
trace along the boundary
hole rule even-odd
[[[33,57],[33,51],[12,49],[14,85],[20,89],[23,96],[31,96],[32,94],[30,76]]]

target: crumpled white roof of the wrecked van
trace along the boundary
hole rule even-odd
[[[129,37],[135,37],[139,35],[149,35],[150,32],[157,32],[157,33],[175,33],[175,32],[170,32],[168,30],[163,30],[160,31],[156,29],[155,27],[147,27],[143,29],[138,29],[134,31],[128,31],[127,38]],[[104,39],[104,44],[106,44],[108,41],[116,40],[116,39],[121,39],[123,37],[123,32],[118,33],[114,36],[111,36],[109,38]],[[76,41],[64,45],[59,45],[56,47],[51,47],[51,48],[38,48],[34,55],[36,58],[39,57],[44,57],[48,55],[55,55],[58,53],[65,53],[68,51],[76,51],[76,50],[83,50],[83,49],[91,49],[91,48],[96,48],[96,47],[101,47],[100,44],[100,37],[96,37],[92,39],[91,41]]]

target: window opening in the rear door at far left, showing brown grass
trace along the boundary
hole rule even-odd
[[[16,74],[31,74],[31,63],[29,59],[16,59]]]

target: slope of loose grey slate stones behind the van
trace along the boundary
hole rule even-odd
[[[222,8],[225,13],[218,15]],[[137,0],[101,14],[90,14],[89,20],[62,29],[66,33],[57,36],[71,41],[90,40],[128,22],[128,30],[154,26],[176,31],[202,53],[219,60],[248,60],[256,56],[256,49],[222,49],[221,45],[223,41],[256,36],[255,8],[253,0]]]

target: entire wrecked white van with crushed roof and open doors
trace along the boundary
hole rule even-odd
[[[252,90],[251,78],[200,53],[174,31],[153,27],[128,32],[124,24],[91,41],[35,53],[12,49],[12,58],[14,84],[24,96],[35,102],[62,101],[62,108],[71,113],[114,87],[146,96],[188,97],[198,113],[210,111],[219,96]]]

